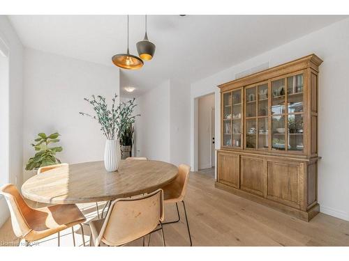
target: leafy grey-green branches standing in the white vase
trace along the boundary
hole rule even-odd
[[[91,99],[84,98],[84,100],[93,106],[96,115],[91,116],[89,113],[80,112],[82,116],[89,116],[97,120],[101,125],[103,135],[109,140],[115,138],[120,140],[120,135],[135,122],[135,117],[140,116],[140,114],[133,114],[135,106],[137,106],[135,98],[128,100],[128,102],[120,102],[119,105],[115,104],[116,99],[117,95],[115,94],[110,109],[105,102],[105,97],[92,95]]]

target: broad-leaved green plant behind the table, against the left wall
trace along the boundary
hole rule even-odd
[[[36,141],[36,144],[31,144],[34,147],[34,150],[37,152],[34,157],[29,159],[27,166],[25,167],[27,171],[61,163],[61,161],[57,159],[55,155],[57,152],[61,152],[63,149],[60,146],[49,147],[50,143],[59,142],[59,139],[57,139],[59,136],[61,135],[58,132],[52,133],[49,136],[47,136],[45,133],[38,134],[38,138],[34,140]]]

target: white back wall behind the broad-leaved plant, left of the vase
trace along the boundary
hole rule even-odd
[[[105,137],[84,97],[102,95],[112,102],[119,95],[119,69],[39,52],[24,51],[24,164],[34,155],[31,147],[39,132],[61,134],[63,152],[57,157],[69,164],[103,160]],[[119,99],[118,99],[119,102]],[[32,175],[27,171],[24,178]]]

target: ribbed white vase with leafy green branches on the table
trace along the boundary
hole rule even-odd
[[[105,141],[104,166],[109,172],[117,171],[119,168],[121,161],[120,134],[124,133],[126,128],[135,122],[136,116],[140,116],[140,114],[133,115],[133,110],[137,106],[135,98],[128,102],[120,102],[118,106],[115,104],[116,99],[117,95],[115,94],[110,109],[105,102],[105,97],[92,95],[91,99],[84,98],[84,100],[93,106],[96,116],[80,112],[82,116],[89,116],[101,125],[101,131],[107,139]]]

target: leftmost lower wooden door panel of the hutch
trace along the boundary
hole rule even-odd
[[[239,155],[218,152],[218,182],[239,188]]]

